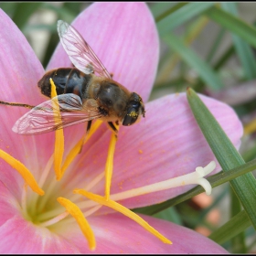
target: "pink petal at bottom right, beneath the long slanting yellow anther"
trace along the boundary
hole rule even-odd
[[[219,244],[174,223],[142,216],[152,227],[173,244],[165,244],[150,232],[121,214],[90,218],[97,247],[94,253],[227,253]],[[66,229],[66,231],[65,231]],[[69,229],[69,231],[68,231]],[[77,246],[81,253],[91,252],[78,229],[63,227],[63,236]]]

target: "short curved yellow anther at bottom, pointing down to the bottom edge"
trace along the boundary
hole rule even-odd
[[[91,249],[91,251],[94,250],[96,247],[96,240],[91,229],[91,226],[88,223],[88,221],[84,218],[80,208],[78,208],[74,203],[69,201],[69,199],[67,198],[58,197],[57,200],[59,204],[66,208],[69,214],[71,214],[77,220],[82,233],[88,240],[89,248]]]

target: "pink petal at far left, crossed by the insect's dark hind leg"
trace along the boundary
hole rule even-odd
[[[43,97],[37,88],[37,80],[44,74],[37,56],[29,46],[27,39],[16,27],[13,21],[0,10],[0,100],[11,102],[22,102],[30,105],[37,105],[46,98]],[[40,174],[46,165],[49,155],[52,152],[52,135],[22,136],[14,133],[12,127],[16,120],[28,110],[26,108],[0,105],[0,149],[16,157]],[[49,144],[51,142],[51,144]],[[42,150],[48,149],[48,150]],[[0,159],[1,179],[3,172],[6,176],[13,176],[9,179],[8,188],[21,184],[22,179],[18,175],[7,174],[13,172],[12,168]],[[16,180],[16,181],[15,181]],[[21,185],[22,186],[22,185]]]

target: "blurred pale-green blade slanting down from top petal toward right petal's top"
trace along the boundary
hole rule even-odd
[[[169,34],[163,39],[192,69],[197,71],[200,78],[204,80],[209,87],[213,90],[218,90],[224,86],[218,75],[208,66],[208,63],[200,59],[192,49],[187,48],[180,38]]]

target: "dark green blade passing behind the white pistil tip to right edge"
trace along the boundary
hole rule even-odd
[[[251,171],[256,170],[256,159],[251,160],[251,162],[246,163],[245,165],[240,165],[238,167],[235,167],[229,172],[219,172],[218,174],[214,176],[208,176],[208,182],[210,183],[211,187],[218,187],[219,185],[230,181],[231,179],[234,179],[238,176],[250,173]],[[144,213],[147,215],[153,215],[156,212],[159,212],[161,210],[164,210],[165,208],[169,208],[172,206],[176,206],[179,203],[182,203],[186,201],[187,199],[191,197],[195,197],[200,193],[203,193],[204,189],[201,186],[194,187],[190,190],[188,190],[186,193],[179,195],[175,198],[171,198],[169,200],[166,200],[163,203],[145,207],[145,208],[136,208],[135,210],[140,213]]]

